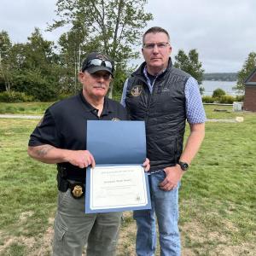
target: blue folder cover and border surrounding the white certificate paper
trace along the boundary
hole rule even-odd
[[[120,167],[125,170],[125,166],[142,166],[146,159],[145,123],[144,121],[88,120],[87,150],[94,156],[96,167],[103,166],[104,168],[107,167],[108,170]],[[97,209],[91,207],[92,195],[90,195],[90,192],[94,191],[91,187],[93,171],[96,172],[90,167],[86,170],[85,213],[123,212],[151,208],[148,174],[146,172],[143,172],[143,185],[145,186],[143,189],[147,201],[143,206],[126,207],[118,205],[117,207],[100,207]],[[106,201],[108,201],[108,193]]]

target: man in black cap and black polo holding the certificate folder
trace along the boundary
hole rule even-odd
[[[96,164],[86,150],[86,121],[127,119],[125,108],[106,97],[112,79],[113,61],[88,55],[79,73],[83,90],[49,107],[30,137],[28,154],[58,169],[53,255],[81,256],[86,243],[87,256],[115,254],[121,212],[84,213],[86,167]],[[148,160],[144,165],[148,170]]]

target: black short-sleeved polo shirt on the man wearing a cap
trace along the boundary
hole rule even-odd
[[[85,150],[87,120],[126,119],[125,108],[107,97],[104,99],[102,114],[98,117],[97,109],[86,102],[81,92],[49,107],[42,122],[32,132],[28,145],[34,147],[49,144],[55,148]],[[69,163],[58,165],[67,169],[68,179],[84,182],[85,168],[80,169]]]

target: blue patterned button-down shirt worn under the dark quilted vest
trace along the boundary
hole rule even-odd
[[[163,71],[165,72],[165,71]],[[163,73],[162,72],[162,73]],[[148,89],[150,90],[150,93],[152,93],[154,88],[154,81],[157,79],[157,77],[160,75],[158,74],[154,81],[150,81],[147,75],[147,70],[144,68],[143,73],[147,79]],[[128,79],[125,81],[123,94],[121,98],[121,104],[125,107],[125,97],[126,97],[126,91],[127,91],[127,85],[128,85]],[[189,124],[201,124],[204,123],[207,119],[205,109],[203,107],[202,101],[201,101],[201,94],[199,90],[199,85],[197,81],[190,77],[185,84],[185,98],[186,98],[186,115],[187,115],[187,121]]]

